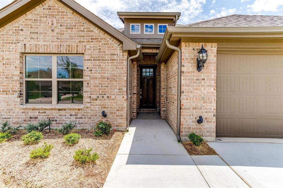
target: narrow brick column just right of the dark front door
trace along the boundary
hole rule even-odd
[[[161,63],[161,71],[160,71],[160,80],[161,80],[161,88],[160,88],[160,116],[161,119],[165,119],[165,95],[166,95],[166,66],[165,63]]]

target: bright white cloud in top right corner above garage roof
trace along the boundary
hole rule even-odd
[[[247,5],[248,12],[260,13],[260,12],[277,12],[278,7],[283,5],[281,0],[255,0],[253,4]]]

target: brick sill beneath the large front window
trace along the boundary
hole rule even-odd
[[[19,106],[20,109],[83,109],[83,104],[57,104],[57,105],[40,105],[24,104]]]

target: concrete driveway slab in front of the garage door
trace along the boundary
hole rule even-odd
[[[208,143],[252,187],[283,186],[283,144]]]

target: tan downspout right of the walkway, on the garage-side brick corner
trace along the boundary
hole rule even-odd
[[[180,103],[181,103],[181,50],[176,46],[169,44],[169,40],[166,39],[166,46],[172,50],[178,51],[178,80],[177,80],[177,140],[181,142],[180,137]]]

